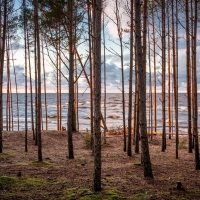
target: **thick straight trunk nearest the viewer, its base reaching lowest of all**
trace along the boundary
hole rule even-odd
[[[95,5],[95,83],[94,83],[94,191],[101,190],[101,11],[102,1]]]

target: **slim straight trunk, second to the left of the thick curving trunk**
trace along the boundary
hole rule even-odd
[[[129,72],[129,105],[128,105],[128,148],[127,155],[132,156],[132,84],[133,84],[133,0],[131,0],[131,27],[130,27],[130,72]]]

